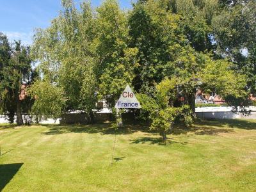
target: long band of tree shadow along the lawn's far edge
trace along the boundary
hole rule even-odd
[[[93,125],[42,125],[49,127],[49,131],[42,134],[64,134],[68,132],[86,132],[100,134],[132,134],[137,131],[148,132],[151,135],[157,131],[150,131],[148,125],[124,125],[120,129],[115,129],[114,123],[93,124]],[[230,128],[252,130],[256,129],[256,122],[250,120],[196,120],[193,127],[186,127],[182,123],[177,123],[170,132],[171,134],[187,134],[193,132],[198,135],[218,135],[220,133],[234,132]],[[141,142],[141,141],[140,141]],[[152,143],[158,141],[151,141]]]

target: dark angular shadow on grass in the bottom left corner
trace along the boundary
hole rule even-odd
[[[0,164],[0,191],[12,180],[23,163]]]

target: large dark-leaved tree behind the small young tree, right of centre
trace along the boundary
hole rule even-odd
[[[166,77],[177,79],[175,89],[179,90],[176,100],[170,105],[189,104],[195,115],[195,93],[198,88],[205,93],[223,95],[227,101],[246,98],[244,78],[234,70],[232,63],[223,65],[215,74],[218,61],[216,46],[212,41],[212,17],[218,8],[214,1],[138,1],[129,17],[131,46],[138,47],[140,61],[136,70],[134,86],[139,92],[154,95],[156,84]],[[216,67],[216,68],[214,68]],[[207,71],[205,71],[207,68]],[[222,73],[230,76],[222,76]],[[209,74],[213,79],[205,79]],[[215,74],[215,75],[214,75]],[[221,80],[222,79],[222,80]],[[237,84],[236,92],[231,91],[225,81]],[[215,84],[214,84],[215,83]],[[209,89],[211,84],[211,89]],[[217,87],[222,86],[218,89]],[[148,88],[149,87],[149,88]],[[211,90],[211,91],[210,91]],[[152,92],[152,93],[150,93]],[[232,95],[233,96],[230,96]],[[180,99],[182,102],[179,102]],[[241,102],[230,104],[243,105]]]

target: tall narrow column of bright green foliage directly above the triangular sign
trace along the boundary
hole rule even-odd
[[[97,13],[99,98],[113,107],[122,90],[134,79],[138,49],[128,47],[127,15],[116,1],[104,1]]]

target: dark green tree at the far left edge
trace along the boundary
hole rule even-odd
[[[29,47],[22,46],[20,41],[15,41],[12,47],[7,37],[0,33],[0,68],[0,108],[7,113],[11,123],[16,113],[17,124],[23,125],[22,113],[31,106],[26,103],[29,97],[20,98],[22,85],[33,80]]]

